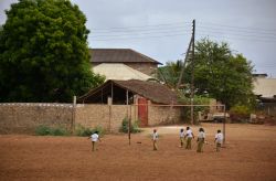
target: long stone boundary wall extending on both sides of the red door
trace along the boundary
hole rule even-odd
[[[78,125],[103,127],[107,132],[118,132],[125,117],[138,120],[134,105],[4,103],[0,104],[0,134],[34,134],[38,126],[63,127],[67,130]],[[181,119],[179,107],[148,105],[148,125],[176,124]]]

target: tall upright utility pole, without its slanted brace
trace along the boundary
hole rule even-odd
[[[193,125],[193,96],[194,96],[194,33],[195,33],[195,20],[192,21],[192,75],[191,75],[191,124]]]

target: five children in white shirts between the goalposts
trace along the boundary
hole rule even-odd
[[[187,143],[185,143],[185,149],[191,150],[192,149],[192,139],[194,139],[194,135],[192,132],[192,129],[190,127],[187,127],[187,131],[184,132],[184,129],[181,128],[180,129],[180,146],[181,148],[184,147],[184,140],[187,139]],[[158,134],[157,134],[157,129],[153,129],[153,134],[152,134],[152,142],[153,142],[153,150],[157,150],[157,140],[158,140]],[[216,146],[216,151],[220,151],[220,148],[222,146],[222,141],[223,141],[223,135],[221,132],[221,130],[217,130],[217,134],[215,135],[214,138],[214,142]],[[205,132],[203,128],[199,129],[199,135],[198,135],[198,149],[197,152],[203,152],[203,145],[205,142]]]

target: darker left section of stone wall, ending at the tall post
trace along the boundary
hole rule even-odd
[[[34,134],[40,125],[72,129],[73,105],[52,103],[0,104],[0,134]]]

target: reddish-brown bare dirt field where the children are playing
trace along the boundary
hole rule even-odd
[[[204,124],[204,152],[179,148],[180,127],[158,128],[159,150],[149,130],[106,135],[96,152],[81,137],[0,136],[0,180],[276,180],[276,127],[226,125],[226,148],[215,152],[221,125]],[[199,127],[192,127],[195,136]],[[141,143],[137,143],[141,142]]]

